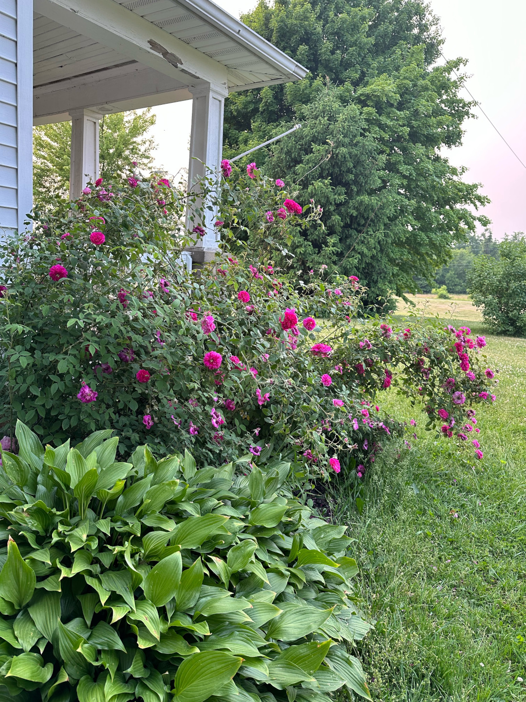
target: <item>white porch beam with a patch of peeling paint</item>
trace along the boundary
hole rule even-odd
[[[226,66],[113,0],[34,0],[34,9],[186,86],[206,81],[227,92]]]

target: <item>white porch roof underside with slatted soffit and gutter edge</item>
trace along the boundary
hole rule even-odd
[[[229,91],[306,75],[304,67],[210,0],[35,0],[34,6],[35,124],[55,121],[50,116],[67,119],[74,107],[117,112],[186,100],[189,86],[207,79],[207,70],[226,77]],[[105,11],[111,15],[107,25],[100,21]],[[121,24],[128,34],[119,34]],[[135,25],[137,41],[130,33]],[[150,48],[147,37],[156,47]],[[173,58],[180,55],[177,65]],[[192,73],[200,61],[203,69]]]

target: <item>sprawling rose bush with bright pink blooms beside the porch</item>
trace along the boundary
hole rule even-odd
[[[315,475],[363,477],[406,429],[380,406],[393,385],[422,406],[429,428],[467,442],[471,405],[492,402],[485,341],[466,329],[360,321],[356,277],[276,270],[290,227],[318,226],[319,212],[303,213],[258,169],[232,180],[220,192],[219,260],[198,275],[177,263],[191,236],[184,193],[157,178],[109,191],[99,183],[72,208],[50,202],[32,237],[6,244],[6,436],[17,417],[44,442],[112,427],[128,455],[140,443],[210,462],[281,454]],[[192,224],[200,216],[194,209]],[[104,241],[93,243],[94,231]]]

